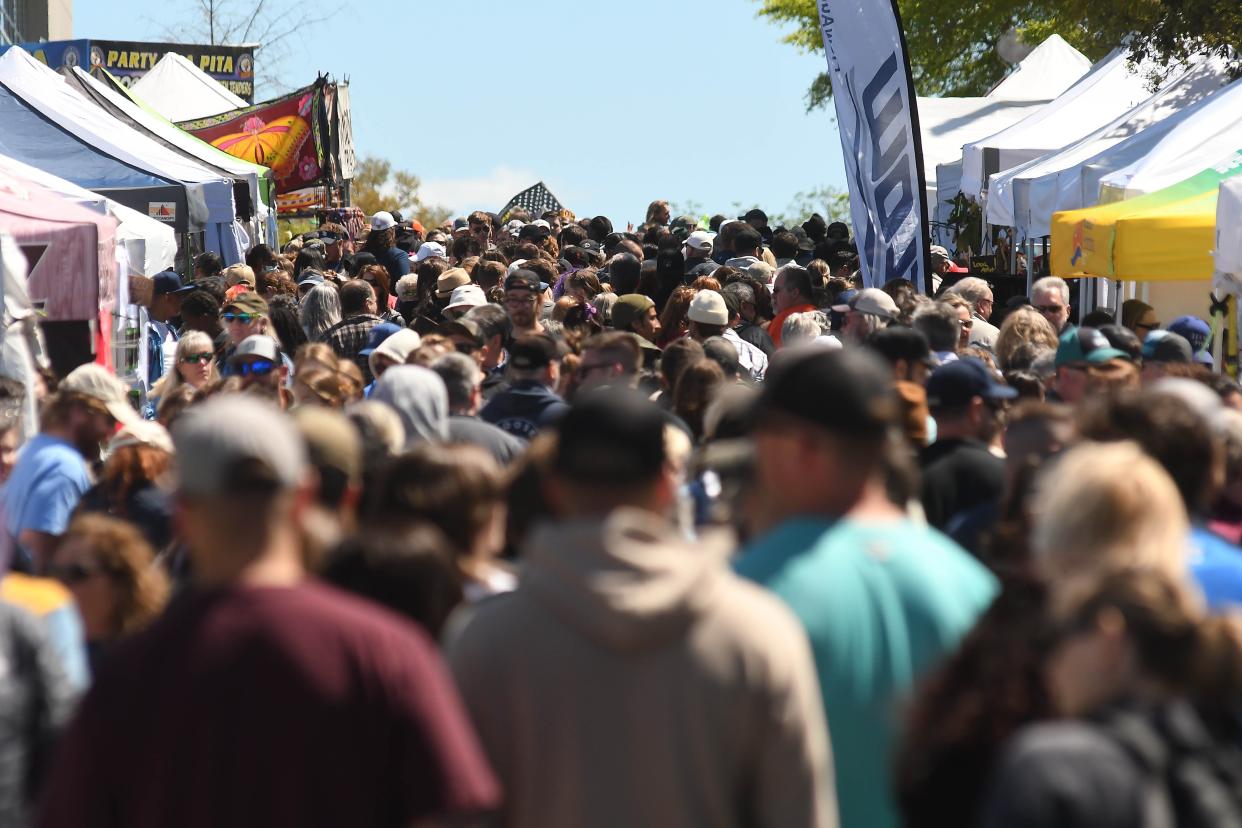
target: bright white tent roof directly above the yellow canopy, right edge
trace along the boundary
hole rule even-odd
[[[1119,201],[1160,190],[1220,164],[1237,149],[1242,149],[1242,81],[1195,107],[1141,158],[1100,170],[1099,200]]]

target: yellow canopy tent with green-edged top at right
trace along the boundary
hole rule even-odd
[[[1220,182],[1242,168],[1217,165],[1136,199],[1052,216],[1051,271],[1130,282],[1212,278]]]

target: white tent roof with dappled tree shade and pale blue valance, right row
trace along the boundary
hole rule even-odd
[[[1228,74],[1220,60],[1200,60],[1154,96],[1069,146],[997,173],[987,184],[987,223],[1017,227],[1027,237],[1047,236],[1052,214],[1073,210],[1082,192],[1083,163],[1123,140],[1154,145],[1176,123],[1171,117],[1220,89]],[[1141,135],[1141,139],[1139,137]],[[1061,191],[1066,196],[1061,197]]]

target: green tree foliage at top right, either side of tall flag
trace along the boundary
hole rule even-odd
[[[785,41],[822,52],[816,0],[760,0],[759,14],[792,25]],[[881,0],[882,1],[882,0]],[[1135,60],[1167,67],[1194,53],[1211,52],[1242,73],[1232,45],[1242,42],[1238,0],[898,0],[910,51],[914,86],[924,96],[986,94],[1009,71],[996,43],[1010,31],[1026,43],[1064,37],[1092,61],[1130,40]],[[1159,76],[1159,72],[1158,72]],[[807,108],[832,96],[827,72],[807,91]]]

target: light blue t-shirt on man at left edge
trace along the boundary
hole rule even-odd
[[[4,489],[4,513],[9,535],[15,540],[32,529],[63,535],[78,500],[91,488],[86,461],[60,437],[35,434],[17,457]],[[29,562],[29,554],[19,556]]]

